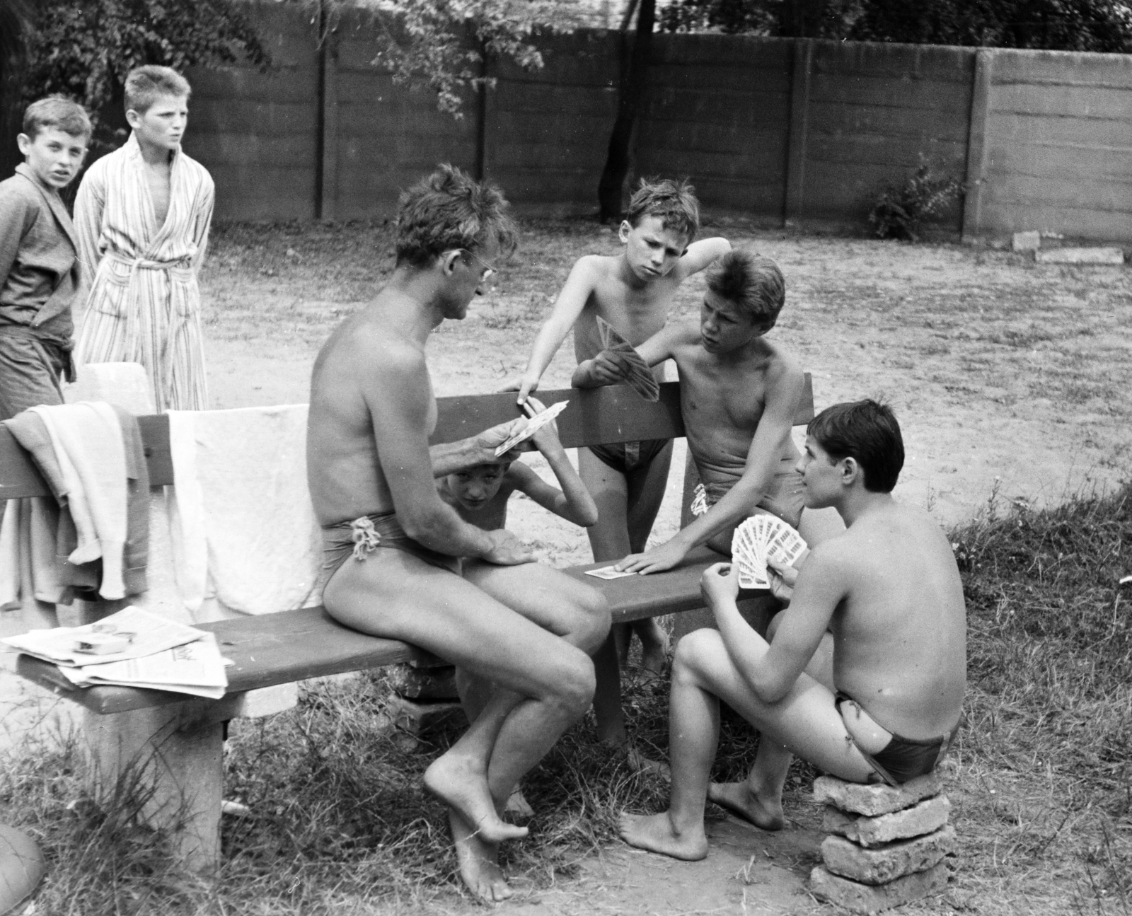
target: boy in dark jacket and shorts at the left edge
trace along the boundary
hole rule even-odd
[[[63,402],[75,380],[71,305],[82,283],[78,240],[59,191],[91,139],[82,105],[52,95],[27,106],[24,162],[0,182],[0,420]]]

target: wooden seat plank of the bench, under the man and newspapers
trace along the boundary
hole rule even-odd
[[[606,596],[614,623],[628,623],[702,607],[700,576],[707,566],[720,559],[722,557],[719,554],[701,547],[692,551],[676,570],[664,573],[612,580],[585,575],[586,570],[608,566],[608,563],[591,563],[564,572]],[[751,597],[764,593],[741,594]],[[221,652],[234,662],[226,669],[229,694],[310,677],[380,668],[402,661],[435,661],[428,652],[406,643],[367,636],[342,626],[323,608],[240,617],[200,624],[199,628],[214,632],[221,644]],[[54,665],[29,656],[19,657],[17,670],[24,677],[98,713],[126,712],[187,699],[186,694],[135,687],[75,687]]]

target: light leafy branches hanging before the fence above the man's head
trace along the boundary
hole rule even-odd
[[[494,86],[486,59],[509,60],[525,70],[542,67],[537,33],[569,32],[581,24],[576,0],[308,0],[320,2],[333,27],[349,9],[381,26],[381,50],[371,61],[397,84],[427,87],[437,108],[463,117],[469,91]]]

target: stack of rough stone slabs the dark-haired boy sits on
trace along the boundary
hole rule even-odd
[[[899,788],[861,786],[830,776],[814,782],[825,804],[822,862],[809,874],[821,900],[854,913],[877,913],[942,892],[944,856],[955,851],[951,804],[938,773]]]

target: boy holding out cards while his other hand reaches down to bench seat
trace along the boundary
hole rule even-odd
[[[755,513],[795,528],[801,519],[790,430],[805,374],[765,336],[786,299],[782,272],[770,258],[736,249],[712,264],[706,279],[700,318],[666,325],[637,351],[650,366],[676,360],[688,450],[710,508],[671,540],[625,557],[618,570],[670,570],[702,543],[730,556],[735,527]],[[621,371],[616,356],[602,351],[578,365],[572,384],[618,385]]]

